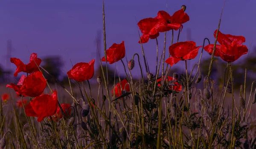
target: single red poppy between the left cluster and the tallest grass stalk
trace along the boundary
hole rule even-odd
[[[78,82],[84,82],[85,80],[91,79],[94,75],[94,62],[95,59],[91,60],[89,63],[77,63],[67,72],[67,76]]]

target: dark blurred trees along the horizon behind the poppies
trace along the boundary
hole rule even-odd
[[[247,87],[250,87],[249,84],[253,82],[253,80],[256,80],[256,47],[253,48],[252,51],[250,51],[250,54],[247,53],[247,57],[244,59],[239,59],[239,62],[234,62],[232,63],[233,67],[233,78],[234,78],[234,87],[239,88],[241,84],[244,84],[244,73],[245,73],[245,68],[247,68]],[[210,59],[203,59],[201,61],[201,75],[202,79],[207,75],[208,69],[209,69],[209,63]],[[63,70],[64,67],[64,62],[61,59],[60,56],[47,56],[42,59],[41,67],[43,67],[48,73],[43,71],[44,76],[47,78],[49,83],[55,83],[55,79],[57,79],[61,84],[63,85],[68,85],[68,78],[66,75],[66,70]],[[211,73],[211,78],[215,80],[216,84],[223,85],[224,84],[224,78],[226,77],[227,81],[227,76],[229,73],[229,68],[227,69],[226,76],[224,76],[224,71],[227,67],[227,62],[224,62],[222,59],[219,59],[215,57],[213,66],[212,66],[212,73]],[[106,67],[103,66],[103,69],[106,72]],[[197,67],[195,68],[194,72],[196,72]],[[169,72],[169,76],[172,76],[172,73],[177,72],[177,73],[185,73],[185,70],[183,68],[172,68]],[[4,70],[3,67],[0,65],[0,83],[6,83],[8,82],[8,78],[11,76],[12,77],[12,71],[10,70]],[[188,72],[190,73],[190,72]],[[105,74],[106,75],[106,74]],[[94,78],[96,79],[97,76],[102,76],[102,71],[101,67],[98,66],[95,68],[95,74]],[[53,79],[53,77],[55,79]],[[108,80],[110,84],[113,84],[114,79],[118,81],[118,74],[113,68],[108,67]],[[120,76],[121,79],[126,78],[126,76]],[[102,77],[103,79],[103,77]],[[16,81],[18,81],[17,78],[15,78]],[[119,82],[119,81],[118,81]],[[104,83],[104,82],[102,82]]]

